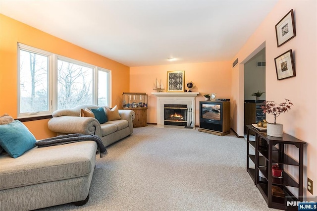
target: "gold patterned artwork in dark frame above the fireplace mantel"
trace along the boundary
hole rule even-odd
[[[168,71],[166,84],[167,84],[167,92],[184,92],[185,72],[184,71]]]

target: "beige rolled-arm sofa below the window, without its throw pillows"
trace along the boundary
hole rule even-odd
[[[57,135],[82,133],[98,135],[105,146],[108,146],[133,133],[133,110],[119,110],[121,119],[100,124],[93,117],[80,117],[81,109],[99,108],[102,106],[81,105],[69,109],[60,109],[53,112],[53,118],[48,122],[49,129]]]

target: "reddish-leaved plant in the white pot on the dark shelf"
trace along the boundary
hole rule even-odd
[[[285,113],[291,109],[293,106],[292,102],[288,99],[285,99],[284,103],[277,105],[274,101],[265,101],[265,105],[261,106],[263,113],[269,113],[274,115],[274,124],[276,124],[276,117],[281,113]]]

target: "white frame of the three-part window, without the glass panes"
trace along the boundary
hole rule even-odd
[[[49,102],[49,110],[48,111],[39,111],[39,112],[34,112],[34,113],[20,113],[20,50],[25,50],[29,51],[32,53],[38,53],[42,54],[45,56],[48,56],[49,58],[49,69],[48,69],[48,102]],[[93,69],[93,75],[92,75],[92,80],[93,80],[93,85],[92,85],[92,104],[98,105],[98,72],[99,71],[104,71],[108,73],[108,81],[107,81],[107,90],[108,90],[108,95],[107,95],[107,102],[108,105],[100,105],[100,106],[111,106],[111,99],[112,99],[112,85],[111,85],[111,70],[98,67],[96,65],[92,65],[86,62],[82,62],[76,59],[68,58],[66,56],[58,55],[55,53],[47,52],[41,49],[37,49],[31,46],[27,46],[21,43],[18,43],[17,45],[17,86],[18,86],[18,93],[17,93],[17,103],[18,103],[18,110],[17,110],[17,117],[18,118],[29,118],[29,117],[37,117],[37,116],[46,116],[46,115],[51,115],[54,110],[57,109],[57,61],[62,60],[65,62],[71,62],[74,64],[82,65],[85,67],[89,67]]]

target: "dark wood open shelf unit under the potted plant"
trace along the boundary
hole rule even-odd
[[[292,210],[297,207],[287,207],[287,201],[303,201],[303,157],[306,142],[288,134],[283,137],[267,136],[266,133],[258,131],[252,125],[247,125],[247,172],[250,174],[255,185],[262,194],[269,208],[280,210]],[[250,132],[255,134],[255,141],[250,140]],[[255,142],[255,143],[254,143]],[[298,148],[298,160],[284,153],[285,145],[294,145]],[[252,148],[251,148],[252,147]],[[254,153],[251,149],[254,149]],[[250,152],[251,151],[251,152]],[[254,168],[250,167],[253,166]],[[278,163],[282,171],[282,178],[272,176],[272,165]],[[298,167],[298,178],[293,178],[284,171],[284,165]],[[260,176],[261,172],[261,176]],[[296,181],[297,180],[297,181]],[[277,197],[272,194],[272,186],[280,187],[285,197]],[[295,197],[287,187],[295,187],[298,192]]]

